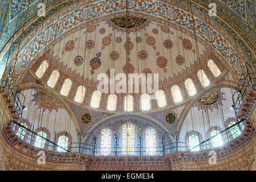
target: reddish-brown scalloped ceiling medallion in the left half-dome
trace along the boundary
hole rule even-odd
[[[37,105],[38,109],[43,108],[43,111],[48,109],[51,113],[52,110],[58,111],[59,108],[62,108],[59,102],[55,100],[55,98],[49,96],[47,93],[38,90],[35,90],[35,92],[36,93],[32,95],[34,97],[32,101],[35,101],[34,106]]]

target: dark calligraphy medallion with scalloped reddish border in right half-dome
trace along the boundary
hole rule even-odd
[[[221,92],[221,90],[213,90],[212,92],[208,92],[206,93],[206,97],[200,98],[200,100],[198,100],[196,104],[194,104],[194,107],[197,107],[198,111],[203,109],[205,112],[206,110],[210,110],[213,112],[214,108],[218,110],[219,105],[223,105],[222,100],[225,100],[225,98],[223,97],[224,94],[225,93]]]

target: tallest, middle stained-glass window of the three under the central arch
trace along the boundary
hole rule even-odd
[[[123,154],[133,155],[135,150],[135,128],[131,123],[128,123],[128,127],[126,124],[123,126],[123,137],[122,137],[122,149]]]

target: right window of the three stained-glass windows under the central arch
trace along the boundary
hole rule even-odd
[[[146,151],[147,155],[156,155],[156,130],[152,127],[146,130]]]

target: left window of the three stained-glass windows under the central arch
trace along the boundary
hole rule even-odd
[[[111,130],[101,131],[101,155],[109,155],[111,152]]]

